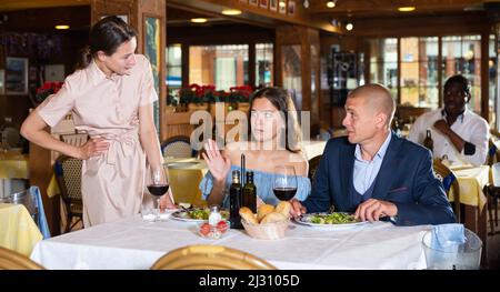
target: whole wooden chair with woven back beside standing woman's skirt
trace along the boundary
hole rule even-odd
[[[67,224],[64,232],[69,232],[83,218],[81,160],[61,155],[56,160],[53,170],[66,205]],[[77,218],[76,222],[73,222],[73,218]]]

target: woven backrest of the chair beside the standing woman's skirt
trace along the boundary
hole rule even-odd
[[[53,165],[62,200],[69,204],[81,201],[81,160],[61,155]]]

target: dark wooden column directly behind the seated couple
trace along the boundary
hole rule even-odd
[[[311,134],[319,131],[320,104],[320,40],[319,31],[300,26],[282,26],[276,33],[276,82],[283,85],[283,47],[300,46],[299,66],[301,70],[301,100],[297,100],[297,110],[311,111]],[[293,88],[286,88],[294,90]],[[316,89],[312,91],[312,89]],[[299,97],[300,98],[300,97]]]

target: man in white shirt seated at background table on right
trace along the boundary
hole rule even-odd
[[[444,155],[452,163],[481,165],[488,154],[488,122],[467,109],[470,101],[467,79],[453,75],[444,83],[444,109],[437,109],[419,117],[411,127],[408,139],[423,143],[426,131],[433,140],[433,158]]]

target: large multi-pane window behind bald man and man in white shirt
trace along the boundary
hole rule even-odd
[[[494,120],[497,90],[494,43],[494,37],[491,36],[490,121]],[[481,36],[371,39],[368,44],[370,82],[388,87],[393,98],[399,97],[399,103],[436,109],[440,104],[440,93],[446,80],[451,75],[462,74],[471,85],[469,109],[481,112]]]

